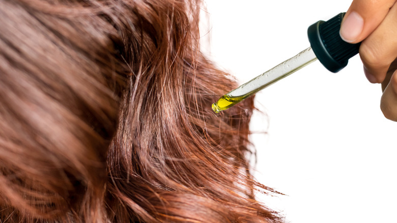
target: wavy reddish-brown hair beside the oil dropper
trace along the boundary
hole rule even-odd
[[[2,222],[278,222],[198,0],[0,1]]]

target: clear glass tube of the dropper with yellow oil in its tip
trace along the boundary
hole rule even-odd
[[[232,107],[240,101],[294,73],[315,60],[317,60],[316,55],[311,47],[309,47],[295,55],[295,57],[282,62],[265,73],[244,83],[237,89],[223,95],[216,103],[212,104],[212,110],[215,113],[220,113],[221,110]]]

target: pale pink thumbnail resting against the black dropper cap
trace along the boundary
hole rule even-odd
[[[364,19],[355,11],[351,12],[342,22],[339,34],[348,43],[358,38],[364,26]]]

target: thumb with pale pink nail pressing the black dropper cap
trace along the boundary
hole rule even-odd
[[[395,0],[354,0],[341,25],[341,37],[358,43],[369,36],[386,17]]]

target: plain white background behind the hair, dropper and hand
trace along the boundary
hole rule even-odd
[[[202,42],[211,36],[210,57],[243,83],[307,48],[307,27],[350,3],[207,0]],[[339,73],[316,61],[258,93],[256,177],[287,194],[259,198],[286,222],[397,222],[397,123],[380,97],[358,55]]]

